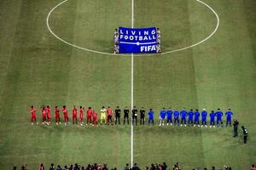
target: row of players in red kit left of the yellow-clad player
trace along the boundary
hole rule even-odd
[[[36,109],[34,108],[34,106],[31,106],[30,109],[30,113],[31,113],[31,123],[32,125],[34,123],[37,123],[37,113],[36,113]],[[68,124],[68,110],[66,105],[63,105],[62,110],[60,110],[58,108],[58,106],[55,106],[55,123],[56,124],[61,124],[61,115],[60,115],[60,111],[62,111],[63,116],[64,116],[64,123],[65,125]],[[49,105],[47,105],[46,107],[43,105],[41,107],[41,115],[42,115],[42,124],[47,124],[49,125],[50,123],[50,119],[51,119],[51,108]],[[98,115],[96,113],[96,111],[93,111],[91,109],[91,107],[89,107],[86,111],[86,118],[87,118],[87,124],[91,124],[91,125],[97,125],[98,124]],[[73,111],[72,111],[72,122],[74,123],[78,123],[78,109],[76,108],[76,106],[73,106]],[[80,106],[79,108],[79,122],[80,125],[83,126],[84,124],[84,107]]]

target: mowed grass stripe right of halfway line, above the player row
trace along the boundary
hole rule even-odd
[[[177,1],[174,2],[174,4],[177,3]],[[184,12],[186,11],[185,8],[187,8],[186,2],[177,3],[177,6],[172,3],[169,3],[169,5],[163,3],[162,11],[165,11],[163,14],[160,13],[161,11],[157,11],[157,8],[152,8],[152,10],[145,13],[144,10],[140,10],[145,6],[145,4],[142,3],[142,1],[137,1],[135,4],[135,26],[147,26],[147,21],[150,18],[150,20],[154,21],[154,24],[151,24],[151,26],[159,24],[159,27],[164,30],[162,31],[162,36],[170,37],[170,35],[166,34],[168,33],[167,30],[172,29],[172,26],[166,26],[165,23],[168,22],[168,20],[162,21],[159,17],[169,15],[169,22],[179,22],[177,26],[184,29],[184,31],[177,32],[177,38],[183,39],[184,42],[190,42],[189,28],[186,26],[188,25],[188,20],[186,20],[188,14]],[[148,2],[148,7],[144,8],[149,8],[154,5],[160,4],[151,1]],[[172,17],[177,14],[176,10],[176,12],[172,14],[173,6],[181,8],[181,12],[178,13],[178,19],[183,18],[183,20],[177,21],[175,17]],[[180,15],[183,15],[183,17]],[[183,25],[181,23],[183,23]],[[163,40],[162,43],[166,44],[167,42]],[[193,86],[195,82],[193,71],[193,62],[189,50],[171,55],[137,57],[135,59],[135,104],[147,105],[157,110],[159,110],[161,106],[171,106],[172,109],[180,109],[184,106],[196,108],[197,99],[195,85]]]

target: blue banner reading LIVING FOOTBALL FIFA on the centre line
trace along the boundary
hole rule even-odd
[[[156,28],[119,27],[119,53],[156,53]]]

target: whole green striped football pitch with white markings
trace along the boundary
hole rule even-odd
[[[1,0],[0,169],[51,162],[122,169],[131,161],[249,169],[256,163],[256,1],[201,2]],[[160,27],[164,54],[112,55],[113,30],[132,25]],[[157,123],[32,126],[30,106],[40,121],[43,104],[67,105],[69,116],[73,105],[97,112],[143,106],[154,109]],[[162,107],[230,108],[248,142],[233,138],[232,127],[159,127]]]

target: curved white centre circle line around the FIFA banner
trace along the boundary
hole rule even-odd
[[[82,48],[82,47],[79,47],[79,46],[77,46],[77,45],[74,45],[74,44],[71,43],[71,42],[67,42],[67,41],[61,39],[61,37],[58,37],[58,36],[55,34],[55,32],[52,31],[51,28],[49,27],[49,17],[50,17],[50,14],[52,14],[52,12],[55,10],[55,8],[58,8],[59,6],[61,6],[61,4],[66,3],[67,1],[68,1],[68,0],[65,0],[65,1],[63,1],[63,2],[61,2],[61,3],[59,3],[59,4],[57,4],[54,8],[52,8],[52,9],[49,11],[49,14],[47,15],[47,19],[46,19],[47,28],[48,28],[49,32],[50,32],[55,38],[57,38],[57,39],[60,40],[61,42],[66,43],[67,45],[72,46],[73,48],[79,48],[79,49],[81,49],[81,50],[89,51],[89,52],[91,52],[91,53],[105,54],[105,55],[115,55],[115,56],[130,56],[130,54],[111,54],[111,53],[105,53],[105,52],[96,51],[96,50],[92,50],[92,49],[88,49],[88,48]],[[216,19],[217,19],[217,25],[216,25],[214,31],[212,31],[212,33],[211,33],[208,37],[206,37],[205,39],[201,40],[200,42],[196,42],[196,43],[194,43],[194,44],[192,44],[192,45],[190,45],[190,46],[188,46],[188,47],[185,47],[185,48],[178,48],[178,49],[174,49],[174,50],[172,50],[172,51],[167,51],[167,52],[162,53],[162,54],[160,54],[160,55],[172,54],[172,53],[175,53],[175,52],[183,51],[183,50],[185,50],[185,49],[194,48],[195,46],[200,45],[200,44],[203,43],[203,42],[206,42],[210,37],[212,37],[212,36],[215,34],[216,31],[218,31],[218,25],[219,25],[218,14],[213,10],[212,7],[210,7],[209,5],[207,5],[207,3],[203,3],[203,2],[201,2],[201,0],[195,0],[195,1],[197,1],[198,3],[202,3],[202,4],[205,5],[207,8],[209,8],[209,9],[212,11],[213,14],[215,14]],[[133,14],[132,14],[132,17],[133,17]],[[132,24],[132,26],[133,26],[133,19],[131,19],[131,24]],[[157,55],[157,56],[159,56],[159,54],[137,54],[136,56],[149,56],[149,55]]]

